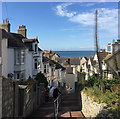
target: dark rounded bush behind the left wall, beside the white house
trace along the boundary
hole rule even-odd
[[[47,78],[41,72],[36,75],[35,80],[38,82],[38,84],[44,83],[45,87],[48,85]]]

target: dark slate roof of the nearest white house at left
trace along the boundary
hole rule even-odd
[[[0,34],[2,34],[2,39],[8,39],[8,47],[26,48],[26,46],[22,42],[24,36],[22,36],[21,34],[6,32],[4,29],[0,29]]]

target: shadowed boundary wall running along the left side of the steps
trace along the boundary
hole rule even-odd
[[[33,83],[34,82],[34,83]],[[2,117],[27,117],[45,102],[44,85],[30,85],[2,78]]]

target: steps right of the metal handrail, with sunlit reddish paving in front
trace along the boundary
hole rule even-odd
[[[74,117],[76,119],[83,118],[84,116],[80,111],[79,98],[76,93],[66,94],[63,96],[63,101],[59,110],[60,117]]]

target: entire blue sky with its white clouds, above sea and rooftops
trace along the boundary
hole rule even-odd
[[[94,50],[96,9],[99,48],[105,48],[118,39],[117,2],[3,2],[2,19],[9,18],[11,32],[25,25],[43,50]]]

